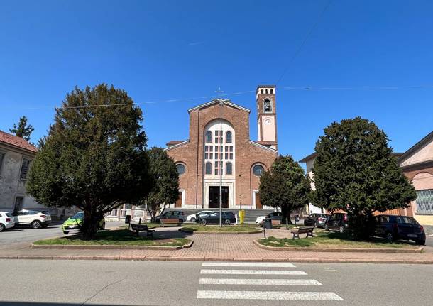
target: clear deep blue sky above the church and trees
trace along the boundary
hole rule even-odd
[[[312,153],[325,126],[353,116],[407,150],[433,130],[433,1],[331,1],[288,65],[327,2],[1,1],[0,129],[26,115],[37,141],[67,92],[105,82],[141,104],[148,145],[165,146],[187,139],[187,109],[209,101],[187,98],[253,91],[288,67],[280,153]],[[256,140],[253,92],[229,98],[252,110]]]

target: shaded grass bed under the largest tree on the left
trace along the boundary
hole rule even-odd
[[[183,246],[190,243],[190,239],[170,238],[155,239],[145,236],[133,236],[128,229],[117,229],[114,231],[98,231],[94,240],[84,240],[80,234],[65,236],[54,239],[43,239],[33,244],[59,244],[59,245],[80,245],[80,246]]]

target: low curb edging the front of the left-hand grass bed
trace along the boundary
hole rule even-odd
[[[190,248],[194,241],[190,241],[188,244],[183,246],[80,246],[80,245],[53,245],[53,244],[31,244],[31,248],[42,248],[42,249],[56,249],[56,250],[181,250],[183,248]],[[50,257],[50,256],[49,256]],[[116,256],[115,256],[116,257]]]

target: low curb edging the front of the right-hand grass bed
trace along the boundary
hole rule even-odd
[[[263,246],[257,240],[253,241],[258,248],[270,251],[301,251],[301,252],[356,252],[356,253],[422,253],[424,248],[297,248],[291,246]]]

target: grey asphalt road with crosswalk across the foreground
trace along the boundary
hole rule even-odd
[[[1,260],[0,305],[432,305],[433,265],[244,264]]]

